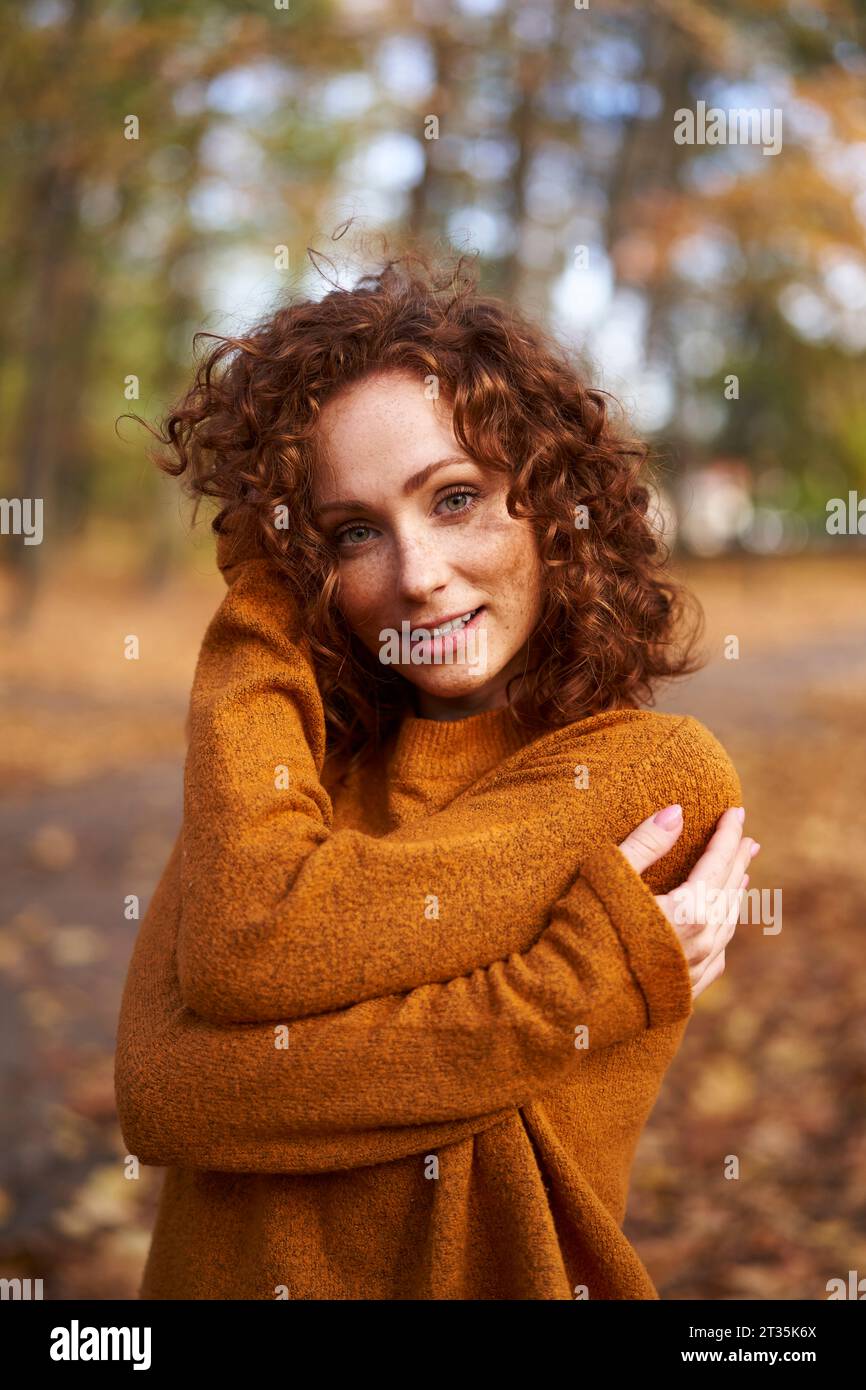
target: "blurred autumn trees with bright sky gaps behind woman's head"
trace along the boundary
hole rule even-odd
[[[531,313],[578,310],[588,361],[638,393],[666,382],[657,439],[680,468],[748,459],[813,521],[863,484],[853,0],[32,0],[0,11],[0,480],[44,499],[49,549],[104,518],[167,574],[177,491],[140,434],[118,455],[115,421],[170,407],[197,327],[322,292],[306,249],[346,203],[361,227],[477,247],[485,288]],[[699,100],[778,106],[783,150],[678,145],[674,113]],[[634,328],[610,346],[623,304]],[[25,616],[47,550],[4,541]]]

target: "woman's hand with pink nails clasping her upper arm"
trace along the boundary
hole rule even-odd
[[[724,970],[724,948],[737,930],[742,891],[749,881],[746,867],[760,849],[753,840],[744,840],[744,820],[742,806],[726,810],[685,883],[656,897],[685,952],[695,999]],[[619,848],[631,867],[644,873],[681,833],[683,808],[666,806],[641,821]]]

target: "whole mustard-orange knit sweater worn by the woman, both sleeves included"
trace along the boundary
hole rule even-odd
[[[221,567],[118,1022],[124,1141],[167,1168],[140,1297],[657,1298],[620,1227],[692,999],[653,894],[740,805],[726,752],[496,709],[328,785],[295,599]],[[677,801],[639,877],[616,845]]]

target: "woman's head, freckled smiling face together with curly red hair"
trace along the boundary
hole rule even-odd
[[[218,338],[157,438],[174,455],[160,467],[222,503],[214,530],[238,557],[268,556],[295,592],[329,763],[374,756],[407,713],[461,717],[505,691],[542,734],[645,703],[698,664],[646,445],[541,327],[480,293],[464,257],[406,254]],[[382,628],[475,606],[488,670],[378,659]]]

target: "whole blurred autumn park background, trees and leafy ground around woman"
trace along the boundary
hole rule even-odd
[[[477,252],[653,442],[708,656],[659,706],[723,741],[783,891],[698,1001],[627,1234],[663,1298],[865,1276],[862,7],[25,0],[0,36],[0,492],[43,499],[39,543],[0,534],[0,1273],[135,1297],[161,1180],[114,1112],[124,902],[179,824],[224,585],[121,417],[160,421],[196,331],[322,295],[307,247],[350,284],[353,217]],[[780,111],[781,149],[677,143],[699,101]]]

